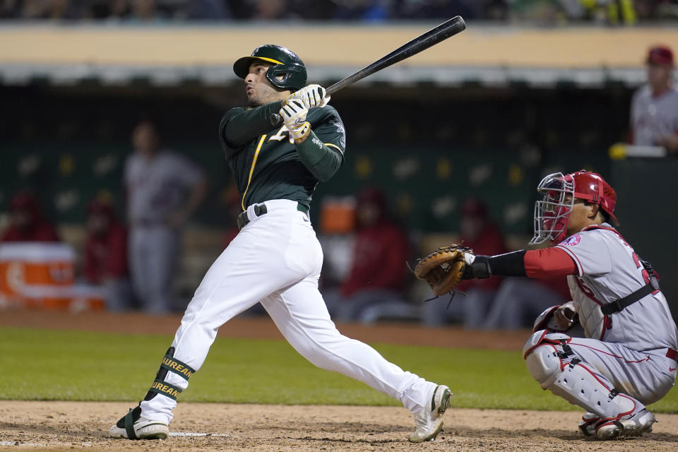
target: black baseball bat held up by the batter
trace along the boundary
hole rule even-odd
[[[425,32],[423,35],[415,37],[415,39],[403,44],[402,46],[398,47],[398,49],[393,50],[393,52],[390,54],[374,61],[374,63],[369,64],[369,66],[365,66],[356,73],[343,78],[334,85],[331,85],[329,88],[327,88],[326,93],[328,95],[332,95],[338,90],[343,90],[343,88],[346,88],[348,85],[352,85],[353,83],[362,80],[367,76],[371,76],[373,73],[381,71],[381,69],[398,63],[398,61],[408,59],[412,57],[412,55],[416,55],[419,52],[422,52],[422,50],[426,50],[429,47],[433,47],[439,42],[446,40],[448,37],[452,37],[460,32],[463,32],[463,30],[466,30],[466,23],[461,16],[455,16],[449,20],[446,20],[436,28]],[[277,126],[282,120],[283,118],[280,117],[280,114],[274,113],[270,116],[270,124],[273,126]]]

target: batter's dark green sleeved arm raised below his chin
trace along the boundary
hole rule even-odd
[[[232,117],[226,114],[220,127],[222,138],[234,148],[244,146],[254,138],[268,133],[273,127],[268,118],[279,111],[280,102],[270,102]]]

